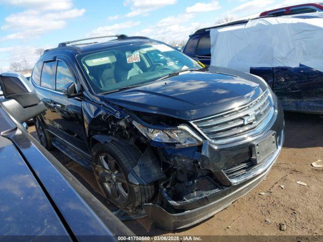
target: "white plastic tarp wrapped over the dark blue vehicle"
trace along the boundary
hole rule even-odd
[[[323,71],[323,13],[260,18],[210,30],[211,65],[299,67]]]

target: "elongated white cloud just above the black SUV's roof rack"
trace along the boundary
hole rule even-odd
[[[124,23],[118,23],[114,25],[106,25],[98,27],[92,30],[87,36],[104,36],[104,35],[114,35],[114,34],[121,34],[122,29],[128,29],[135,26],[138,26],[140,21],[126,21]]]

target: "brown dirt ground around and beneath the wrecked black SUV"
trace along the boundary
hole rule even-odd
[[[312,162],[323,160],[323,116],[287,112],[285,122],[284,148],[268,176],[227,209],[176,232],[155,228],[147,217],[125,224],[137,235],[150,236],[323,235],[323,167],[311,166]],[[33,126],[29,132],[37,136]],[[91,171],[58,150],[51,153],[105,203]]]

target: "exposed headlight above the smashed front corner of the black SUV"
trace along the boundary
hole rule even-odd
[[[172,143],[176,146],[196,146],[202,144],[202,140],[187,126],[179,126],[177,129],[151,129],[136,121],[134,126],[147,138],[163,143]]]

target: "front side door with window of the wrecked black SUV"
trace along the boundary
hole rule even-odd
[[[62,92],[64,86],[71,82],[78,85],[76,73],[70,68],[68,59],[57,57],[55,96],[51,100],[57,117],[53,123],[56,129],[62,131],[64,141],[88,153],[82,117],[82,97],[67,98]]]

